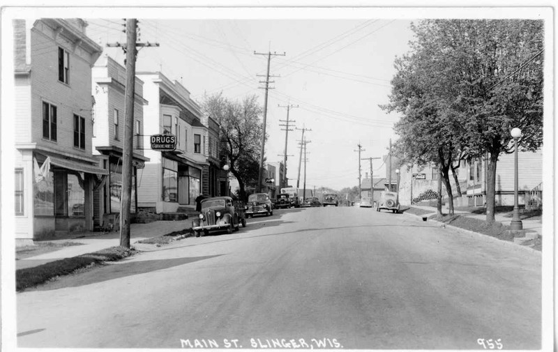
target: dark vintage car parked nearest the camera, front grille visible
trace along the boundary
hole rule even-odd
[[[202,212],[192,221],[192,229],[196,237],[209,234],[213,230],[239,229],[239,223],[246,227],[246,220],[239,215],[239,209],[232,205],[231,197],[213,197],[202,200]]]

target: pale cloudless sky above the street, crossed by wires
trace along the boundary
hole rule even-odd
[[[302,128],[307,144],[306,187],[340,190],[358,185],[361,158],[386,155],[396,114],[386,104],[395,74],[393,60],[409,50],[410,20],[397,19],[283,19],[283,20],[140,20],[141,42],[159,47],[140,50],[137,71],[160,71],[176,79],[202,102],[204,94],[223,92],[242,100],[257,95],[264,105],[268,52],[271,56],[266,115],[265,155],[282,161],[285,150],[287,105],[297,130],[287,139],[287,177],[296,184]],[[86,18],[87,35],[105,47],[105,54],[123,63],[122,49],[106,43],[125,43],[122,19]],[[284,55],[284,56],[283,56]],[[278,105],[282,105],[279,107]],[[300,129],[300,130],[298,130]],[[290,156],[292,155],[292,156]],[[362,177],[370,163],[362,160]],[[374,160],[376,176],[385,175],[382,160]],[[301,187],[304,163],[301,165]]]

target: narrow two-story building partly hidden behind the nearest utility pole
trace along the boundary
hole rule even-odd
[[[93,93],[93,155],[109,170],[101,187],[94,192],[93,222],[98,227],[107,221],[107,214],[120,213],[122,194],[122,152],[125,128],[126,68],[107,55],[100,56],[92,69]],[[130,213],[137,209],[137,169],[144,167],[149,158],[144,157],[144,114],[147,101],[142,98],[143,82],[135,79],[133,116],[133,176]]]

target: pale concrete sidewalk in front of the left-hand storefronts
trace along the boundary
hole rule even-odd
[[[130,244],[133,246],[134,243],[139,240],[163,236],[174,231],[181,231],[189,228],[191,224],[192,220],[156,221],[150,222],[149,224],[130,224]],[[80,234],[69,234],[67,238],[49,240],[48,242],[73,242],[83,244],[61,247],[61,249],[54,252],[43,253],[34,257],[17,260],[15,261],[16,270],[32,268],[33,266],[40,266],[44,263],[49,263],[50,261],[76,257],[81,254],[96,252],[104,250],[105,248],[120,245],[120,234],[118,231],[110,233],[86,232]]]

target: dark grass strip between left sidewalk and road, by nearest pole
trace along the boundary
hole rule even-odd
[[[126,247],[110,247],[98,252],[82,254],[77,257],[64,258],[57,261],[44,263],[33,268],[24,268],[15,271],[15,289],[23,291],[29,287],[43,284],[53,277],[68,275],[75,270],[85,268],[91,264],[103,263],[105,261],[118,261],[130,257],[135,250]]]

